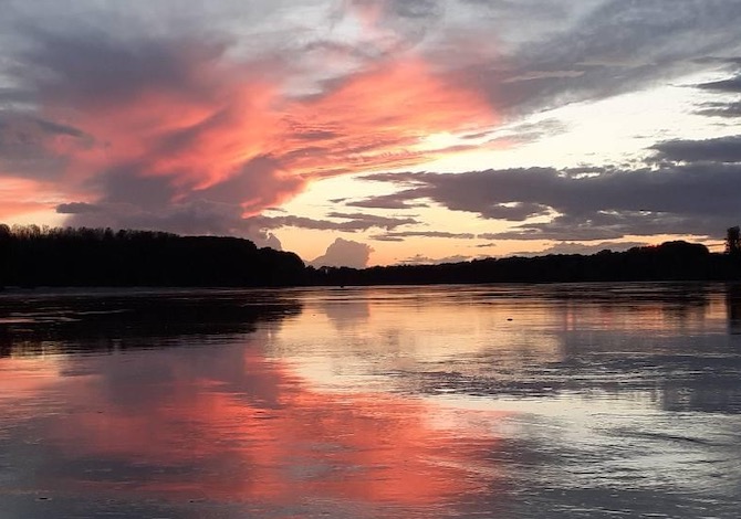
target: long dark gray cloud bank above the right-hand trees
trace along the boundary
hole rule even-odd
[[[511,231],[479,235],[481,240],[712,236],[741,222],[740,144],[739,137],[664,142],[656,147],[661,159],[656,168],[633,170],[526,168],[365,178],[406,188],[385,195],[385,204],[431,200],[484,219],[523,222]],[[528,222],[535,216],[545,220]]]

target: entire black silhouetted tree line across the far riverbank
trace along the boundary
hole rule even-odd
[[[741,279],[738,227],[727,253],[683,241],[593,255],[483,258],[363,269],[305,266],[249,240],[154,231],[0,224],[2,286],[343,286]]]

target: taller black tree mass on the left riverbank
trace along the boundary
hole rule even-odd
[[[238,237],[0,224],[0,286],[288,286],[304,268]]]

